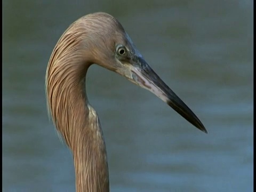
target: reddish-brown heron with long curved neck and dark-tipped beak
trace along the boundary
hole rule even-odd
[[[207,133],[193,111],[151,69],[116,18],[103,12],[87,14],[62,34],[45,77],[49,115],[73,154],[76,191],[109,191],[105,140],[86,95],[86,73],[92,64],[149,90]]]

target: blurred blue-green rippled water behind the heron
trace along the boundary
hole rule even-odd
[[[87,94],[105,135],[111,191],[253,191],[253,1],[3,1],[3,191],[75,191],[49,121],[45,70],[66,28],[103,11],[195,112],[198,131],[99,66]]]

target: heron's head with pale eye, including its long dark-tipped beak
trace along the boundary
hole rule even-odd
[[[92,15],[94,33],[90,39],[93,46],[93,63],[126,77],[134,84],[149,90],[162,99],[182,117],[199,130],[207,133],[204,125],[187,105],[167,86],[143,59],[121,23],[106,13]],[[98,23],[98,27],[95,27]],[[93,27],[92,27],[93,28]],[[97,42],[97,43],[95,43]]]

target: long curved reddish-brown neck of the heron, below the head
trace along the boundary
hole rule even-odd
[[[65,38],[68,39],[68,35],[62,40]],[[69,47],[59,41],[47,67],[49,111],[57,130],[73,152],[76,191],[109,191],[105,142],[97,113],[87,102],[85,92],[85,76],[90,63],[79,59],[82,52],[77,47],[75,50],[71,50],[75,46]]]

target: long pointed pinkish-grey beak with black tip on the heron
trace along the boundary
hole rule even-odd
[[[150,68],[148,63],[138,58],[136,67],[132,70],[131,81],[157,95],[160,99],[172,107],[178,114],[187,119],[188,122],[196,126],[199,130],[207,133],[202,122],[188,108],[188,106],[167,86],[162,79]]]

